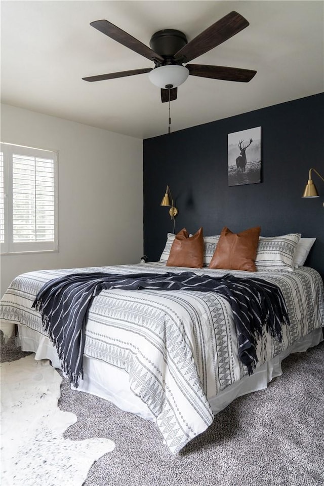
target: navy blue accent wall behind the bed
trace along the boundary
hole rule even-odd
[[[229,187],[227,134],[253,127],[261,127],[261,183]],[[324,277],[324,182],[316,174],[320,197],[301,198],[311,167],[324,176],[324,93],[146,139],[143,151],[149,261],[159,259],[173,232],[169,208],[160,206],[168,184],[179,209],[176,233],[258,225],[263,236],[300,232],[317,238],[306,264]]]

